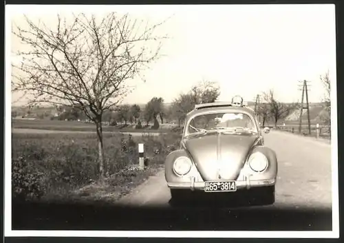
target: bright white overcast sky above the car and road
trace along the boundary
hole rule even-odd
[[[235,94],[252,101],[274,89],[287,102],[301,100],[298,81],[306,79],[310,102],[319,102],[324,92],[319,75],[329,70],[336,82],[334,5],[6,6],[7,11],[19,25],[23,13],[46,25],[56,25],[57,13],[128,12],[151,23],[173,15],[160,28],[171,36],[162,49],[166,56],[145,72],[146,83],[131,81],[136,89],[126,103],[147,103],[153,96],[169,103],[202,79],[219,83],[220,101]],[[12,51],[23,48],[10,41]]]

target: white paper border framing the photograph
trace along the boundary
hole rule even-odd
[[[253,4],[243,4],[249,6]],[[292,5],[292,4],[288,4]],[[294,5],[294,4],[293,4]],[[319,4],[314,4],[319,5]],[[335,12],[334,4],[332,5],[333,12]],[[195,6],[159,6],[160,8],[200,8],[200,5]],[[232,5],[238,6],[238,5]],[[270,4],[267,6],[269,7]],[[279,5],[281,6],[281,5]],[[312,5],[308,5],[312,6]],[[331,83],[331,148],[332,148],[332,231],[15,231],[12,230],[12,187],[11,185],[11,154],[12,154],[12,126],[11,126],[11,14],[14,8],[60,8],[65,10],[72,10],[77,8],[80,10],[92,11],[106,9],[109,10],[109,5],[6,5],[6,21],[5,21],[5,44],[6,44],[6,96],[5,96],[5,163],[4,163],[4,178],[5,178],[5,200],[4,200],[4,236],[6,237],[200,237],[200,238],[338,238],[339,237],[339,202],[338,202],[338,134],[337,134],[337,91],[336,78],[332,79]],[[121,8],[149,8],[149,6],[121,6]],[[214,7],[214,5],[207,5],[206,8]],[[117,8],[117,7],[116,7]],[[41,11],[41,10],[40,10]],[[334,14],[335,15],[335,14]],[[334,24],[336,23],[334,17]]]

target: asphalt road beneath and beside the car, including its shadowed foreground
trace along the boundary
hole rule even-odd
[[[274,149],[279,159],[273,205],[172,208],[161,171],[116,205],[36,204],[25,211],[25,216],[20,215],[24,209],[18,205],[12,221],[17,219],[16,229],[332,230],[330,145],[281,131],[264,137],[266,146]]]

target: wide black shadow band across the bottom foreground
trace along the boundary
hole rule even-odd
[[[191,206],[191,205],[190,205]],[[331,210],[12,204],[13,230],[332,230]]]

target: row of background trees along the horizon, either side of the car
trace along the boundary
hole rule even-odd
[[[158,129],[164,120],[181,127],[186,114],[191,112],[195,105],[216,102],[220,94],[218,83],[200,81],[193,85],[189,92],[179,94],[168,106],[164,104],[164,98],[153,97],[143,109],[139,105],[118,105],[105,112],[103,120],[107,120],[110,125],[123,122],[125,125],[127,122],[135,123],[138,129],[142,128],[142,123],[146,123],[145,127],[148,127],[151,121],[153,121],[151,129]],[[295,109],[299,109],[298,103],[278,101],[272,89],[263,92],[261,96],[263,100],[255,106],[255,112],[263,127],[267,122],[272,122],[276,126],[279,120],[286,118]]]

